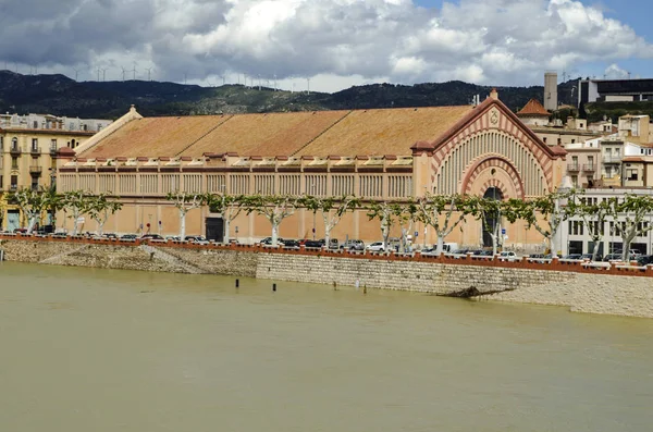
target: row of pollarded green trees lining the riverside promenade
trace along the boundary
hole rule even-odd
[[[73,234],[77,234],[79,217],[87,214],[98,224],[98,234],[109,217],[122,208],[116,197],[109,194],[89,195],[83,190],[57,194],[53,189],[20,189],[10,195],[10,201],[19,205],[28,220],[27,232],[32,232],[36,222],[46,211],[63,211],[73,220]],[[653,198],[643,195],[626,194],[602,200],[590,199],[582,192],[569,190],[552,193],[542,197],[522,199],[493,199],[468,195],[433,195],[405,199],[402,201],[365,200],[355,196],[267,196],[267,195],[226,195],[171,193],[167,199],[177,208],[180,214],[180,237],[185,238],[186,214],[202,206],[212,212],[221,213],[224,221],[224,243],[230,242],[230,225],[241,214],[257,213],[266,218],[272,229],[272,245],[276,245],[279,227],[284,219],[299,208],[305,208],[323,220],[324,239],[329,244],[332,230],[348,211],[365,210],[370,220],[379,220],[385,248],[393,227],[402,235],[402,248],[406,245],[412,225],[421,222],[433,229],[436,235],[435,251],[442,252],[444,239],[456,229],[463,230],[468,219],[483,223],[485,232],[492,238],[493,251],[501,244],[502,220],[515,223],[523,221],[528,227],[534,227],[549,243],[552,254],[556,245],[560,224],[571,218],[580,219],[588,230],[593,244],[594,256],[605,235],[606,222],[612,222],[613,232],[623,239],[625,260],[629,259],[629,249],[637,236],[653,230],[646,218],[653,214]]]

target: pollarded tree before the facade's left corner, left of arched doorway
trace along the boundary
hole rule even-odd
[[[436,254],[444,251],[444,238],[465,221],[478,213],[477,197],[466,195],[432,195],[426,193],[417,200],[417,219],[431,226],[438,236]],[[457,212],[456,215],[454,213]],[[444,218],[444,220],[443,220]]]

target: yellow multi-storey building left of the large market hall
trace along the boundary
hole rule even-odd
[[[110,120],[0,114],[0,200],[22,187],[49,187],[58,150],[76,148],[109,124]],[[0,214],[0,231],[24,224],[15,206]]]

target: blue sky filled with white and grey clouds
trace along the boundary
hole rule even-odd
[[[0,0],[0,69],[337,91],[653,77],[650,0]]]

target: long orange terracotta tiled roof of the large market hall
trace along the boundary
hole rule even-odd
[[[435,139],[472,109],[465,106],[139,119],[78,156],[410,155],[410,146],[416,141]]]

